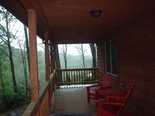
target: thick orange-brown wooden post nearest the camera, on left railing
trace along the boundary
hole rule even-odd
[[[36,23],[36,11],[34,9],[28,9],[30,80],[32,101],[37,101],[39,98]]]

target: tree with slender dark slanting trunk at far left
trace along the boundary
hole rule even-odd
[[[9,51],[9,60],[10,60],[10,67],[11,67],[11,73],[12,73],[12,82],[13,82],[13,89],[14,92],[17,93],[17,82],[16,82],[16,76],[15,76],[15,69],[14,69],[14,61],[13,61],[13,54],[11,49],[11,42],[12,39],[15,37],[15,34],[11,32],[11,23],[15,22],[15,17],[9,13],[6,9],[3,7],[0,8],[0,33],[1,33],[1,41],[3,41]]]

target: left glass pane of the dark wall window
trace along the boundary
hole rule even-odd
[[[106,72],[111,72],[110,71],[110,43],[106,42],[105,43],[105,65],[106,65]]]

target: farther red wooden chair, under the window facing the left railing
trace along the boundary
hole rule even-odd
[[[92,85],[87,87],[87,100],[90,102],[90,99],[97,100],[100,96],[97,95],[97,90],[108,89],[112,85],[112,76],[104,75],[102,81],[98,85]]]

